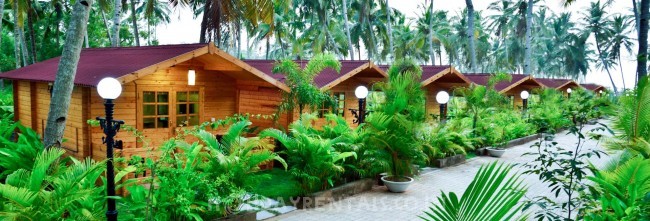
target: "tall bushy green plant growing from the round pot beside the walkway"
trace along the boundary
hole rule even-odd
[[[381,154],[376,160],[386,162],[393,179],[413,175],[412,164],[423,164],[426,155],[418,139],[425,119],[424,91],[420,86],[422,69],[412,60],[395,62],[388,70],[388,82],[376,84],[385,101],[366,118],[364,127],[376,135],[368,141]]]

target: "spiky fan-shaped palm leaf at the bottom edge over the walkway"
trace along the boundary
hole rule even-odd
[[[482,221],[482,220],[526,220],[516,218],[524,208],[519,201],[527,191],[521,174],[511,174],[512,166],[498,162],[482,165],[461,198],[454,192],[442,193],[438,204],[425,211],[423,220],[437,221]]]

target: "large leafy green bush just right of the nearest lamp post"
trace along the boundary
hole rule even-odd
[[[267,140],[242,136],[250,124],[235,122],[221,141],[199,127],[186,132],[199,141],[190,144],[173,138],[165,142],[160,159],[147,159],[144,164],[151,176],[140,181],[143,185],[127,188],[131,195],[123,202],[128,211],[123,216],[201,220],[240,212],[243,204],[259,198],[256,187],[268,178],[258,173],[259,165],[271,160],[284,164],[270,151]]]

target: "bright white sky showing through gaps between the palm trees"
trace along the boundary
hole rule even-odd
[[[475,10],[486,10],[488,5],[491,2],[496,0],[474,0],[474,9]],[[422,12],[422,5],[425,3],[425,0],[388,0],[390,6],[400,10],[406,15],[407,18],[417,18]],[[428,1],[427,1],[428,2]],[[542,0],[539,3],[535,4],[535,7],[545,6],[550,11],[555,13],[562,12],[571,12],[572,19],[574,22],[578,22],[579,14],[585,11],[585,8],[589,6],[592,0],[578,0],[576,3],[572,4],[565,8],[562,5],[562,0]],[[614,0],[613,4],[607,9],[607,12],[610,14],[613,13],[622,13],[622,14],[631,14],[632,1],[625,0]],[[446,10],[450,11],[451,14],[460,13],[463,8],[465,8],[465,1],[462,0],[434,0],[434,10]],[[194,19],[192,11],[187,8],[174,9],[171,22],[169,24],[161,25],[156,29],[157,36],[160,41],[160,44],[182,44],[182,43],[197,43],[199,41],[199,32],[200,32],[200,20]],[[489,15],[489,11],[483,12],[485,16]],[[636,32],[632,32],[631,35],[636,35]],[[631,38],[636,39],[636,36],[631,36]],[[593,43],[593,37],[591,39]],[[592,44],[594,45],[594,44]],[[634,51],[637,50],[635,45]],[[630,88],[634,84],[635,80],[635,71],[636,71],[636,60],[635,56],[623,52],[622,65],[623,73],[625,75],[625,85],[627,88]],[[443,60],[444,62],[444,60]],[[614,78],[614,83],[618,88],[623,87],[623,79],[621,78],[621,71],[618,67],[611,67],[610,72]],[[597,83],[611,88],[611,83],[607,72],[600,70],[595,67],[595,64],[591,65],[591,70],[587,74],[585,79],[581,79],[582,82],[588,83]]]

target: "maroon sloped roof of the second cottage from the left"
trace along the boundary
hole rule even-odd
[[[276,61],[273,60],[245,60],[248,65],[264,72],[265,74],[273,77],[274,79],[283,82],[285,81],[285,76],[283,74],[274,74],[273,73],[273,66],[275,65]],[[304,68],[304,66],[307,64],[308,61],[300,60],[300,61],[295,61],[296,63],[300,64],[301,68]],[[349,61],[349,60],[342,60],[341,62],[341,72],[338,73],[335,70],[331,68],[326,68],[323,70],[320,74],[316,75],[314,78],[314,83],[318,88],[322,88],[323,86],[335,81],[336,79],[339,79],[343,75],[351,72],[352,70],[367,64],[369,61]]]

